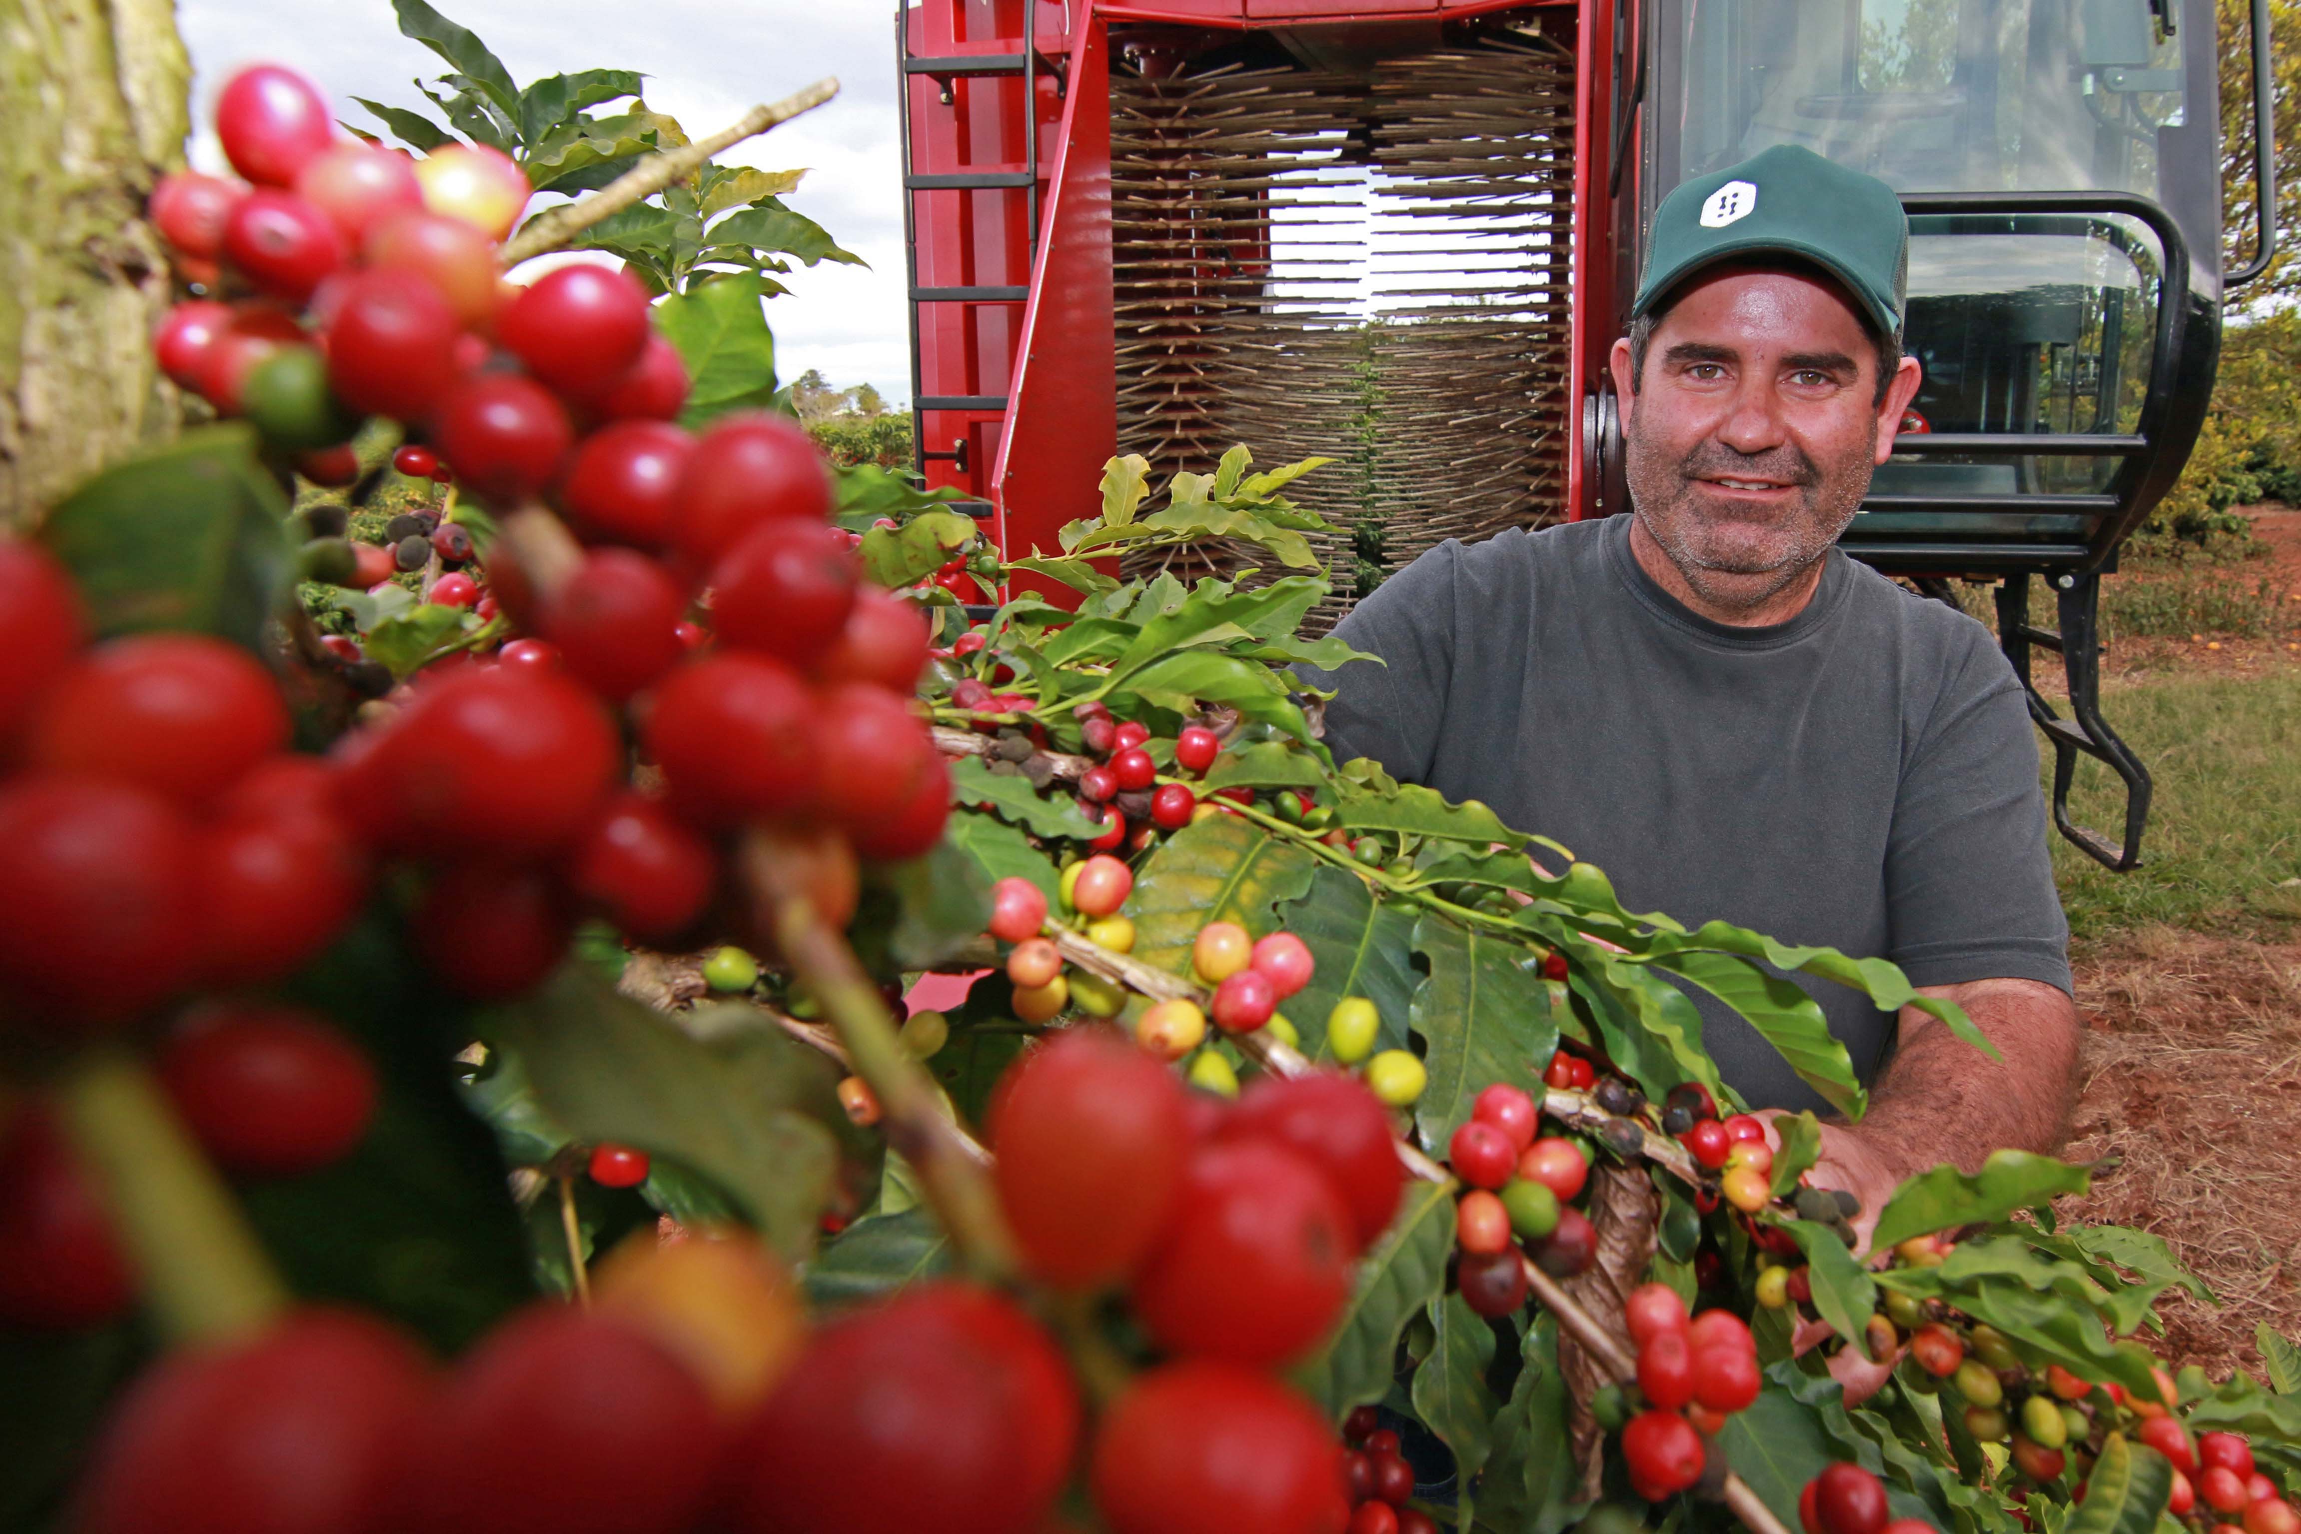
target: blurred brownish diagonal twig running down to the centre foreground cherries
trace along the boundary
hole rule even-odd
[[[847,938],[817,915],[805,892],[778,888],[778,858],[755,856],[755,835],[746,835],[739,856],[755,908],[766,913],[792,973],[824,1005],[854,1074],[879,1097],[888,1145],[918,1168],[927,1203],[966,1263],[983,1276],[1006,1274],[1012,1242],[985,1168],[987,1152],[943,1115],[934,1081],[904,1051],[879,987],[856,964]]]

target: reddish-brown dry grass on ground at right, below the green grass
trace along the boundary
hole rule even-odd
[[[2087,1014],[2071,1159],[2119,1157],[2066,1219],[2163,1235],[2220,1297],[2161,1302],[2161,1352],[2260,1375],[2253,1329],[2301,1332],[2301,943],[2151,927],[2078,954]]]

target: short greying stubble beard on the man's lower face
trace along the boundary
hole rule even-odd
[[[1829,554],[1868,494],[1875,467],[1868,442],[1850,446],[1838,462],[1818,465],[1788,444],[1737,453],[1705,439],[1671,462],[1664,448],[1643,439],[1636,421],[1631,416],[1622,444],[1631,513],[1687,586],[1721,609],[1760,607],[1797,584]],[[1797,506],[1769,524],[1772,538],[1728,543],[1719,536],[1728,520],[1700,506],[1700,474],[1786,478],[1797,488]]]

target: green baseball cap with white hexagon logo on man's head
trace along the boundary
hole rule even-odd
[[[1894,189],[1802,145],[1680,184],[1654,209],[1645,281],[1629,313],[1648,313],[1703,267],[1746,255],[1797,255],[1841,283],[1887,336],[1910,292],[1910,218]]]

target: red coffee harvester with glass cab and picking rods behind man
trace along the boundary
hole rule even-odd
[[[1654,205],[1804,145],[1912,235],[1924,386],[1843,547],[1942,600],[1997,582],[2055,823],[2128,869],[2149,773],[2101,718],[2101,577],[2271,255],[2266,0],[2250,28],[2262,223],[2223,271],[2214,0],[918,0],[920,469],[1012,557],[1118,451],[1335,458],[1293,490],[1339,529],[1335,619],[1443,538],[1627,511],[1606,352]],[[2080,757],[2122,837],[2071,819]]]

